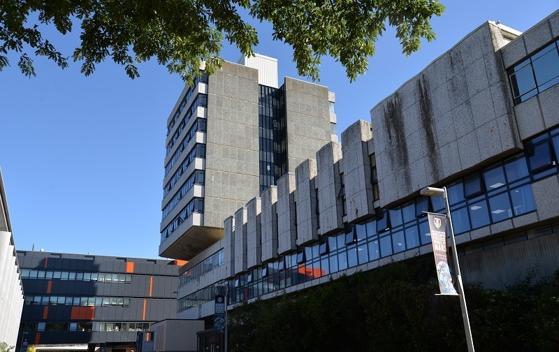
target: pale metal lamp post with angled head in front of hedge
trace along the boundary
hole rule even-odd
[[[474,341],[472,339],[472,330],[470,329],[470,318],[467,315],[466,297],[464,294],[464,287],[462,284],[462,276],[460,274],[460,264],[458,263],[458,252],[456,251],[456,241],[454,240],[454,229],[452,227],[452,219],[450,216],[449,196],[447,194],[447,187],[435,188],[425,187],[420,191],[422,196],[439,197],[443,196],[444,206],[447,208],[447,216],[449,217],[450,227],[450,242],[452,247],[452,258],[454,262],[454,270],[456,271],[456,282],[458,284],[458,297],[460,298],[460,308],[462,309],[462,319],[464,321],[464,330],[466,333],[467,350],[474,351]]]

